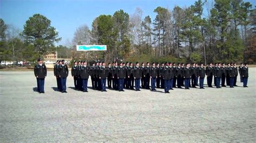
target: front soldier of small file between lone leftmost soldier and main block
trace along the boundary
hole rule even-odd
[[[62,60],[62,65],[58,68],[58,75],[62,83],[62,92],[66,93],[66,77],[69,76],[68,66],[65,65],[65,60]]]

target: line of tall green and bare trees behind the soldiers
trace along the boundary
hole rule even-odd
[[[203,13],[205,8],[207,12]],[[113,15],[96,17],[91,29],[87,25],[77,28],[69,56],[105,61],[253,63],[256,60],[256,9],[250,2],[215,0],[209,5],[198,0],[185,8],[174,6],[170,10],[159,6],[153,12],[156,13],[154,18],[143,17],[143,10],[139,8],[131,15],[121,9]],[[24,30],[18,36],[9,36],[8,40],[2,19],[0,26],[1,59],[14,53],[12,47],[22,51],[24,58],[59,48],[54,45],[61,39],[58,31],[42,15],[30,17]],[[77,52],[75,45],[107,45],[107,51]]]

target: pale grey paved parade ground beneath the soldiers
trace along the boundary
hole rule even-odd
[[[239,87],[171,94],[81,92],[70,75],[61,93],[48,71],[38,94],[33,71],[0,71],[0,142],[256,141],[256,68],[249,68],[248,88],[238,77]]]

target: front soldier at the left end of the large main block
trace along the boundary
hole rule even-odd
[[[88,78],[90,76],[90,67],[87,66],[87,62],[86,61],[83,61],[81,62],[83,63],[83,66],[80,68],[79,70],[79,75],[82,79],[82,87],[83,87],[83,92],[88,92],[87,90],[87,84],[88,84]]]

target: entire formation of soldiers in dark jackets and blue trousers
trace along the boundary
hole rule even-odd
[[[47,75],[46,66],[42,59],[37,60],[34,73],[37,78],[37,90],[44,93],[44,79]],[[60,92],[66,92],[66,78],[69,76],[68,66],[64,60],[57,60],[54,67],[57,89]],[[206,67],[204,64],[197,63],[149,63],[136,62],[95,62],[92,66],[87,66],[86,61],[75,61],[71,68],[71,75],[74,80],[76,90],[88,92],[87,83],[91,77],[92,89],[107,91],[108,89],[124,91],[125,89],[140,91],[140,88],[156,91],[156,88],[164,89],[165,93],[170,93],[173,88],[185,87],[185,89],[197,88],[204,89],[204,78],[207,78],[208,87],[233,88],[237,86],[237,76],[240,75],[240,82],[247,87],[248,65],[241,63],[237,67],[236,63],[210,63]],[[199,81],[199,84],[198,84]],[[226,84],[225,84],[226,81]],[[151,83],[151,86],[150,86]],[[107,85],[106,85],[107,84]],[[177,85],[177,86],[176,86]],[[150,88],[151,87],[151,88]],[[135,88],[135,89],[134,89]]]

